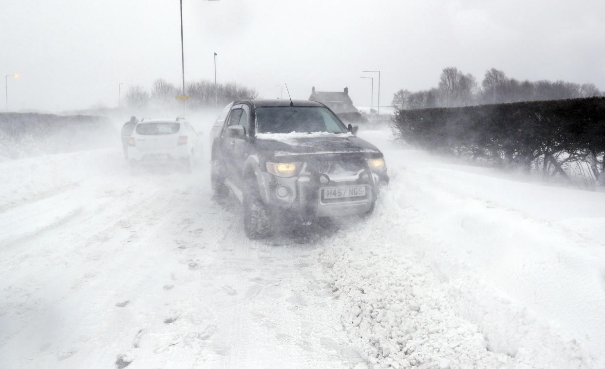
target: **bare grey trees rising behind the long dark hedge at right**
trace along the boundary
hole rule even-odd
[[[443,69],[438,87],[410,92],[399,90],[393,96],[396,109],[451,108],[479,104],[512,103],[537,100],[563,100],[604,96],[593,83],[557,80],[520,81],[509,78],[503,71],[491,68],[479,85],[472,74],[455,67]]]

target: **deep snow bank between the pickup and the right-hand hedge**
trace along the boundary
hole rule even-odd
[[[603,367],[604,194],[393,149],[373,216],[325,241],[342,325],[394,367]],[[370,136],[370,137],[368,137]]]

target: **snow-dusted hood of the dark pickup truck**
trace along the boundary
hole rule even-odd
[[[350,132],[259,133],[255,137],[261,145],[274,151],[275,156],[380,152],[376,146]]]

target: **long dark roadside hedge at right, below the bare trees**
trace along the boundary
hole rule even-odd
[[[565,178],[586,171],[576,174],[605,184],[605,97],[400,109],[393,123],[430,151]]]

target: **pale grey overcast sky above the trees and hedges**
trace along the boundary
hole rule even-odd
[[[118,84],[181,83],[178,0],[2,0],[0,67],[10,110],[116,106]],[[183,0],[186,80],[214,79],[275,98],[311,87],[381,105],[400,88],[436,87],[457,67],[605,90],[605,1]],[[4,97],[4,89],[0,96]],[[284,88],[284,95],[286,94]],[[123,95],[122,95],[123,96]],[[2,99],[4,100],[4,99]],[[4,101],[0,104],[4,110]]]

